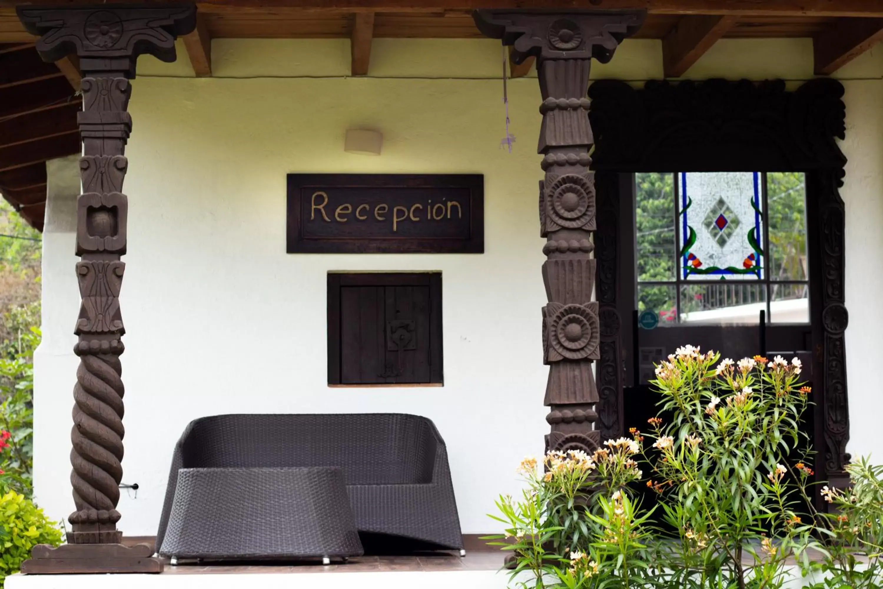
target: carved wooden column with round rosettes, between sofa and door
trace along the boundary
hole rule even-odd
[[[595,230],[592,128],[589,125],[589,68],[592,57],[608,62],[623,38],[634,34],[644,11],[476,11],[479,30],[512,45],[520,64],[537,57],[543,116],[539,153],[546,172],[540,182],[543,253],[543,353],[549,366],[545,404],[551,432],[546,449],[600,445],[595,404],[598,390],[592,362],[599,358],[598,303],[592,301]]]

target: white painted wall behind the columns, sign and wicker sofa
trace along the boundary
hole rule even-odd
[[[192,79],[186,58],[142,57],[128,153],[129,254],[122,293],[127,335],[125,482],[120,524],[155,533],[170,455],[191,419],[223,412],[412,412],[449,446],[463,531],[494,529],[494,497],[516,491],[515,466],[539,454],[542,240],[535,79],[509,83],[504,136],[501,51],[492,41],[377,40],[372,76],[347,77],[346,41],[216,41],[215,78]],[[183,53],[181,55],[184,55]],[[451,56],[456,58],[452,58]],[[811,77],[808,40],[725,41],[688,77]],[[661,77],[660,43],[626,42],[597,77]],[[847,332],[853,442],[876,451],[872,418],[883,311],[883,51],[839,72],[847,87]],[[318,77],[318,78],[317,78]],[[383,155],[343,152],[352,126],[384,133]],[[483,255],[285,253],[288,172],[483,173]],[[51,187],[50,187],[51,201]],[[48,215],[53,215],[49,207]],[[59,213],[60,215],[61,213]],[[48,225],[49,226],[49,225]],[[72,510],[68,432],[79,301],[69,231],[44,242],[45,336],[37,354],[35,495],[51,517]],[[329,270],[441,270],[445,386],[328,389]],[[878,448],[880,447],[880,448]]]

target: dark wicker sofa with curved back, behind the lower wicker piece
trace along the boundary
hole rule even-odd
[[[367,554],[462,551],[444,441],[431,420],[402,413],[240,414],[192,421],[175,446],[156,551],[170,555],[162,543],[170,525],[179,469],[317,466],[343,470]],[[286,489],[272,491],[284,509]],[[228,496],[249,501],[242,494]],[[242,506],[230,506],[229,511],[242,512]],[[174,525],[200,522],[176,521]]]

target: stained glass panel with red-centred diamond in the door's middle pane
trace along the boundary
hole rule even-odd
[[[683,278],[762,278],[760,174],[682,172],[678,176]]]

